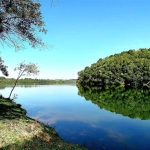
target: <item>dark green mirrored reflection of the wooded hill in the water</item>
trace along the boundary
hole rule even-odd
[[[79,95],[104,108],[130,118],[150,119],[150,89],[78,87]]]

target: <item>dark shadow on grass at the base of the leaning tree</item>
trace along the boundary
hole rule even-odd
[[[6,98],[0,99],[0,120],[17,119],[25,117],[25,115],[26,110],[22,109],[20,104],[16,104]]]

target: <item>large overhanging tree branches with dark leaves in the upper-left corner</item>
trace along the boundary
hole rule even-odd
[[[27,41],[32,47],[45,46],[36,31],[46,33],[38,0],[0,0],[0,42],[15,50],[24,48]]]

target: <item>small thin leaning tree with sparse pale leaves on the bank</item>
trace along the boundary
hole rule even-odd
[[[15,81],[15,84],[10,92],[10,95],[9,95],[9,99],[11,97],[11,94],[14,90],[14,88],[16,87],[17,85],[17,82],[18,80],[22,77],[22,76],[32,76],[32,75],[38,75],[39,74],[39,70],[38,70],[38,67],[36,66],[36,64],[34,63],[29,63],[29,64],[25,64],[24,62],[20,63],[18,67],[16,67],[14,69],[14,71],[18,70],[19,73],[18,73],[18,77]]]

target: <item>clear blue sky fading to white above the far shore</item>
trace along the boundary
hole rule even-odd
[[[77,72],[99,58],[150,47],[150,0],[40,0],[48,33],[39,34],[51,50],[14,52],[0,46],[9,77],[20,62],[37,63],[33,78],[76,79]]]

